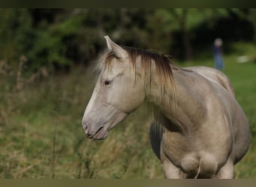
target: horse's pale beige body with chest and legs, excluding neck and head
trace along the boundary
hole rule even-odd
[[[165,109],[155,117],[150,127],[153,150],[162,161],[165,177],[233,178],[234,164],[249,146],[246,116],[234,100],[231,85],[223,86],[228,79],[204,78],[194,67],[189,70],[193,71],[173,72],[174,80],[183,82],[175,82],[183,98],[178,99],[180,117],[175,122]],[[177,123],[181,129],[175,129]]]

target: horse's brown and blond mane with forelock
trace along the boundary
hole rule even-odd
[[[158,77],[159,86],[161,88],[161,96],[168,94],[170,98],[176,98],[174,76],[171,67],[175,67],[168,55],[153,51],[138,49],[128,46],[121,46],[125,49],[129,55],[132,72],[135,76],[136,61],[140,58],[141,61],[141,81],[144,83],[145,88],[150,88],[151,76],[153,73],[153,67],[156,68],[156,74]],[[103,62],[100,65],[100,69],[109,68],[113,58],[118,58],[114,52],[108,52],[103,57]],[[177,68],[177,67],[176,67]],[[135,78],[136,79],[136,78]],[[147,89],[146,89],[147,90]]]

